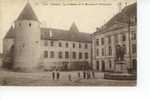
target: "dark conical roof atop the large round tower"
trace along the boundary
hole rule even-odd
[[[37,16],[35,15],[30,3],[27,3],[22,10],[21,14],[17,18],[17,20],[36,20],[38,21]]]

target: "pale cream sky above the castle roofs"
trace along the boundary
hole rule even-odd
[[[2,39],[13,25],[25,4],[30,2],[41,27],[52,27],[68,30],[73,22],[79,31],[93,33],[97,27],[135,0],[0,0],[0,52]],[[69,5],[88,2],[96,5]],[[118,3],[121,2],[121,6]],[[55,4],[55,5],[54,5]],[[57,4],[57,5],[56,5]],[[59,4],[59,5],[58,5]],[[67,4],[67,5],[63,5]]]

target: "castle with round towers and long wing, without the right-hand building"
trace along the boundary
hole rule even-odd
[[[69,30],[40,27],[27,3],[3,39],[4,66],[22,71],[87,69],[91,42],[90,34],[79,32],[75,23]]]

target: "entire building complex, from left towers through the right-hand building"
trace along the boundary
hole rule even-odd
[[[3,39],[4,67],[136,72],[136,5],[126,6],[90,35],[80,32],[75,23],[69,30],[40,27],[27,3]]]

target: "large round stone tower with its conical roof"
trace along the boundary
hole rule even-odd
[[[40,60],[40,23],[29,3],[15,21],[14,68],[34,71]]]

